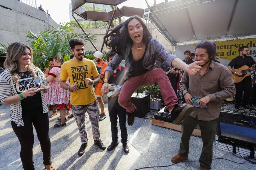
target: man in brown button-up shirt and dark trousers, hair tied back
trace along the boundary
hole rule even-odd
[[[216,46],[210,41],[196,45],[196,61],[203,60],[201,73],[191,77],[184,73],[179,88],[188,104],[193,104],[192,97],[200,99],[197,103],[207,108],[193,107],[191,114],[182,121],[182,135],[179,153],[172,158],[173,163],[188,159],[189,139],[199,124],[203,149],[199,159],[200,170],[211,169],[213,141],[217,118],[220,115],[221,101],[235,95],[235,85],[231,71],[222,64],[214,62]]]

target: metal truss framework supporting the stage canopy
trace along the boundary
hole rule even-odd
[[[225,35],[218,36],[218,37],[207,37],[207,38],[198,38],[196,37],[195,30],[192,25],[191,16],[189,15],[188,8],[195,7],[198,5],[211,3],[218,0],[177,0],[177,1],[170,1],[167,3],[160,3],[151,7],[148,7],[144,10],[144,20],[146,21],[147,25],[149,26],[149,23],[153,24],[154,27],[156,27],[157,30],[166,38],[166,40],[173,46],[176,45],[184,45],[184,44],[194,44],[198,43],[202,40],[211,40],[211,41],[228,41],[228,40],[236,40],[244,39],[244,38],[255,38],[255,33],[248,33],[248,34],[239,34],[239,35],[228,35],[230,31],[231,22],[234,17],[235,10],[237,8],[238,0],[235,0],[234,6],[232,6],[232,13],[230,16],[227,26],[227,30]],[[186,16],[188,18],[188,23],[191,28],[191,32],[193,33],[193,39],[194,40],[188,40],[188,41],[177,41],[172,36],[172,34],[166,29],[165,25],[161,22],[159,19],[160,15],[166,14],[167,12],[172,11],[178,11],[178,10],[184,10],[186,13]],[[150,26],[149,26],[150,28]]]

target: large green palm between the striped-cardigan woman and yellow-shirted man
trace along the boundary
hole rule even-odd
[[[74,33],[68,23],[62,24],[60,28],[51,26],[51,29],[44,29],[41,32],[26,32],[27,41],[31,43],[31,48],[33,49],[33,62],[40,69],[49,67],[48,59],[57,54],[63,56],[64,61],[69,60],[71,51],[68,42],[74,37],[82,38],[84,41],[95,42],[94,35],[91,33],[88,35]]]

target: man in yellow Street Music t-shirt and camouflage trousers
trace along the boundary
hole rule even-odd
[[[96,101],[96,96],[92,85],[100,81],[96,65],[92,60],[83,58],[85,51],[83,48],[84,41],[81,38],[72,38],[69,41],[71,52],[74,58],[65,62],[61,67],[60,86],[63,89],[70,90],[70,104],[72,113],[77,122],[78,130],[81,137],[81,147],[78,155],[82,156],[87,147],[88,135],[85,126],[85,111],[88,113],[92,123],[92,135],[94,144],[100,149],[106,149],[106,146],[100,140],[99,116],[100,110]],[[90,78],[93,77],[94,80]],[[70,79],[70,85],[66,83]]]

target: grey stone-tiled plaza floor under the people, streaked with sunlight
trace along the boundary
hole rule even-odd
[[[105,104],[106,106],[106,104]],[[108,147],[111,143],[110,120],[107,109],[107,118],[100,122],[101,139]],[[10,123],[10,107],[0,106],[0,169],[21,170],[22,164],[19,156],[20,146]],[[50,114],[49,114],[50,115]],[[81,145],[77,124],[74,118],[67,120],[67,126],[54,128],[57,117],[50,118],[50,139],[52,162],[57,170],[134,170],[142,167],[143,170],[199,170],[199,162],[184,162],[171,165],[171,158],[177,154],[181,133],[163,127],[151,125],[151,120],[135,118],[133,126],[128,126],[128,145],[130,152],[125,154],[122,144],[119,143],[113,151],[102,151],[93,144],[92,129],[89,118],[86,126],[89,134],[88,147],[83,156],[77,152]],[[119,129],[118,129],[119,130]],[[33,161],[36,170],[43,170],[43,155],[38,138],[35,134],[33,146]],[[120,130],[119,142],[121,140]],[[199,137],[191,137],[188,160],[198,160],[202,148]],[[236,162],[245,162],[229,152],[213,148],[213,158],[225,158]],[[158,167],[168,166],[168,167]],[[213,160],[213,170],[255,170],[256,165],[250,163],[237,164],[227,160]]]

